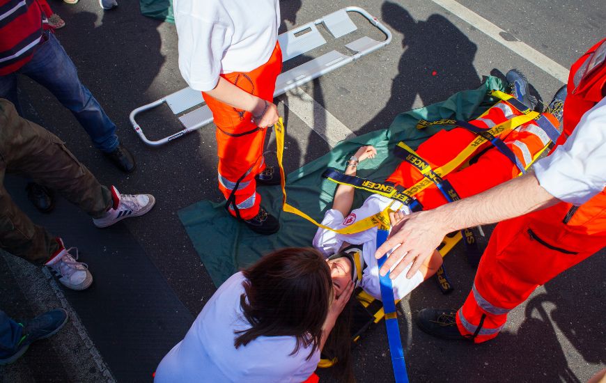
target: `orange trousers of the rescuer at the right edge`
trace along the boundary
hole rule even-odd
[[[472,291],[457,312],[461,334],[473,336],[475,343],[495,338],[507,313],[538,286],[606,246],[606,230],[588,232],[584,224],[564,224],[569,208],[570,204],[559,203],[497,225]]]

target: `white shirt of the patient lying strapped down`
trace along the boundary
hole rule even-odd
[[[393,200],[373,194],[366,198],[362,207],[352,210],[348,217],[343,218],[343,214],[339,210],[328,210],[325,213],[322,224],[329,228],[341,229],[345,228],[356,221],[360,221],[366,217],[371,217],[378,212],[382,212],[387,206],[393,202]],[[396,202],[392,207],[394,210],[399,205],[399,210],[404,214],[410,214],[410,209],[400,202]],[[361,233],[355,234],[339,234],[334,231],[318,228],[316,235],[313,237],[313,247],[318,249],[320,253],[323,253],[325,257],[332,256],[334,253],[339,252],[343,242],[350,244],[364,244],[362,248],[362,256],[364,257],[364,263],[366,267],[362,272],[362,279],[357,281],[357,286],[368,292],[369,295],[375,297],[375,299],[381,299],[381,286],[379,283],[379,265],[375,258],[375,251],[377,250],[377,228],[369,228]],[[389,252],[391,253],[391,251]],[[388,253],[388,254],[389,254]],[[395,265],[394,265],[395,267]],[[419,286],[423,282],[423,274],[417,271],[411,279],[406,279],[406,273],[412,267],[412,263],[400,274],[396,279],[391,281],[394,287],[394,300],[402,299],[414,288]]]

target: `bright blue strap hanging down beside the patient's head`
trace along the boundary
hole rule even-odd
[[[389,231],[377,230],[377,247],[380,247],[387,240]],[[381,267],[387,255],[384,254],[378,264]],[[406,373],[406,364],[404,362],[404,350],[402,348],[402,340],[400,338],[400,327],[398,327],[398,318],[387,318],[387,314],[396,313],[396,303],[394,302],[394,288],[391,286],[389,273],[385,276],[379,275],[381,286],[381,298],[383,300],[383,311],[385,313],[385,327],[387,327],[387,339],[389,340],[389,352],[391,354],[391,366],[394,368],[394,377],[396,383],[408,383],[408,375]]]

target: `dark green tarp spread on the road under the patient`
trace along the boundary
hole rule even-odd
[[[334,182],[321,176],[328,166],[344,169],[346,160],[360,146],[372,145],[377,148],[378,155],[359,164],[357,174],[370,180],[384,181],[401,162],[393,155],[394,146],[399,141],[416,149],[429,136],[444,129],[444,126],[435,126],[417,130],[419,119],[469,120],[479,116],[496,102],[489,95],[492,89],[504,90],[504,84],[496,77],[487,77],[483,85],[474,91],[461,91],[446,101],[398,114],[388,129],[341,141],[326,155],[286,176],[288,203],[321,221],[324,212],[332,206],[336,188]],[[288,127],[286,132],[288,134]],[[288,155],[288,150],[285,151]],[[311,246],[316,226],[295,214],[281,211],[280,187],[260,187],[258,192],[263,198],[263,207],[279,218],[281,228],[277,234],[265,236],[253,233],[228,215],[224,203],[200,201],[178,212],[203,265],[217,287],[233,273],[251,265],[270,251],[282,247]],[[362,205],[366,197],[368,193],[357,190],[354,207]]]

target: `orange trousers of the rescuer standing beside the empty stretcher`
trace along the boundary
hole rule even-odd
[[[232,72],[221,77],[247,93],[273,102],[276,79],[281,70],[282,52],[276,43],[267,63],[250,72]],[[255,176],[265,169],[263,144],[266,130],[258,129],[249,112],[219,102],[204,92],[202,95],[217,125],[219,190],[226,199],[233,193],[233,203],[228,206],[232,215],[240,214],[242,219],[251,219],[261,204]]]

